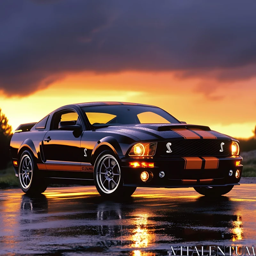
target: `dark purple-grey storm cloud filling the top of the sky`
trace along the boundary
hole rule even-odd
[[[248,78],[255,10],[256,1],[235,0],[1,1],[0,90],[28,94],[86,70]]]

